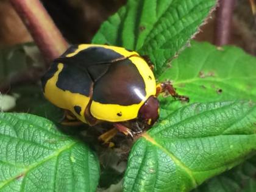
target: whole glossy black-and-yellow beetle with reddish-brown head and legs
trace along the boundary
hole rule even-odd
[[[65,109],[65,119],[94,126],[113,123],[100,138],[107,142],[118,130],[133,135],[151,127],[159,116],[158,94],[176,93],[169,82],[156,84],[148,57],[129,49],[100,44],[73,45],[55,59],[41,78],[46,99]],[[131,130],[127,122],[142,124]]]

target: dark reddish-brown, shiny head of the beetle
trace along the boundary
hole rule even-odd
[[[141,106],[138,117],[142,118],[149,126],[152,126],[159,117],[159,101],[154,96],[150,96]]]

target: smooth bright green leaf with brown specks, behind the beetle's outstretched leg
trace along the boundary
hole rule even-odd
[[[171,80],[177,93],[190,98],[190,103],[251,99],[256,101],[256,59],[233,46],[216,48],[209,43],[193,41],[160,82]],[[171,97],[161,99],[162,118],[181,106]]]

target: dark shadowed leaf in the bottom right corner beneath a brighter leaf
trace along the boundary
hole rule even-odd
[[[210,179],[193,192],[255,192],[256,156],[220,176]]]

